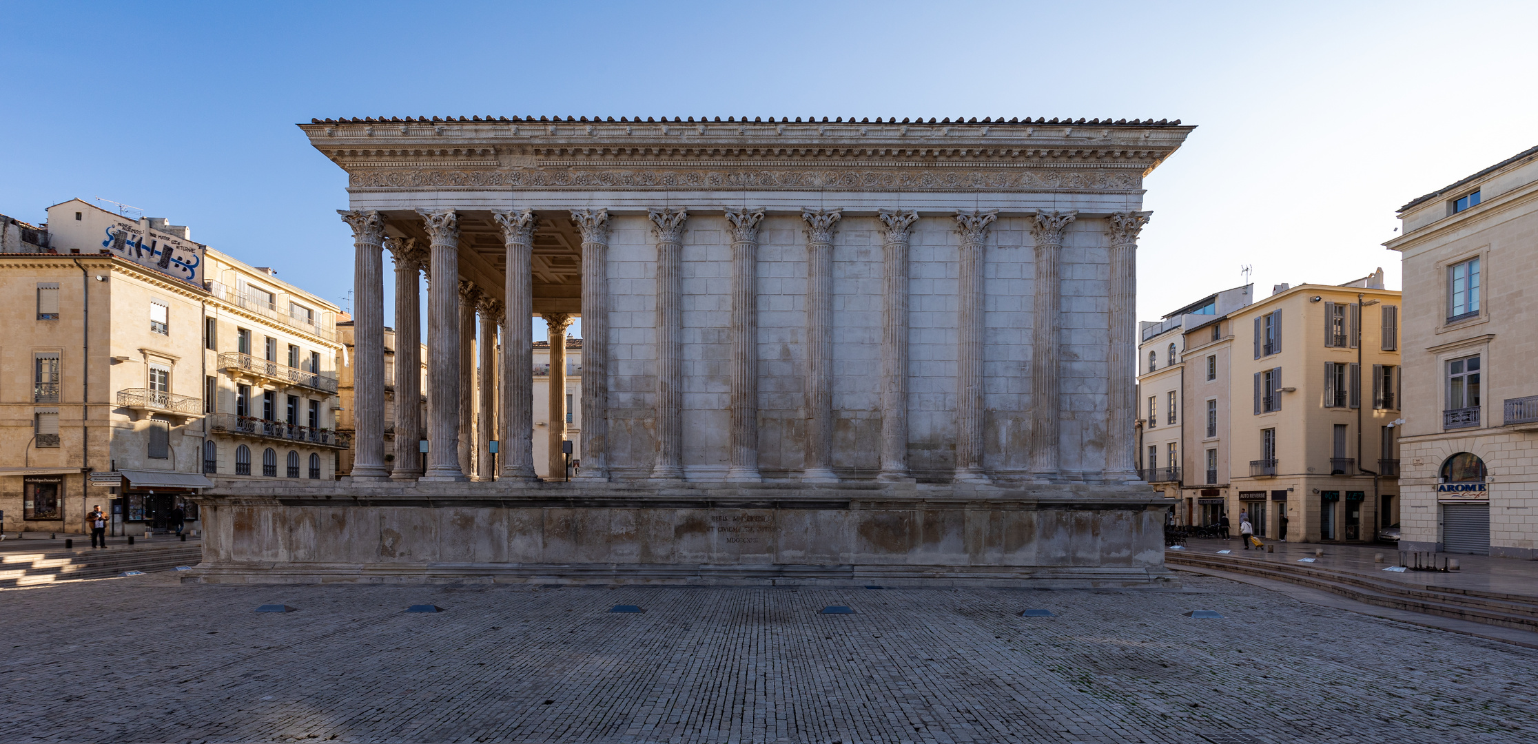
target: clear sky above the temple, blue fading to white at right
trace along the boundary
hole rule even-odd
[[[0,212],[105,197],[329,298],[365,115],[1154,117],[1141,320],[1240,284],[1398,286],[1393,211],[1538,144],[1535,3],[18,3]],[[389,304],[389,303],[386,303]]]

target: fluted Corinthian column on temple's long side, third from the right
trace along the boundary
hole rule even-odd
[[[983,251],[998,211],[957,212],[961,234],[957,320],[957,483],[987,483],[983,472]]]

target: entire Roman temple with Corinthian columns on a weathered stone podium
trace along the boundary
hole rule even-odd
[[[1134,460],[1135,251],[1143,178],[1190,126],[300,128],[349,174],[352,469],[340,487],[214,489],[194,578],[1163,570],[1164,501]],[[424,418],[384,410],[388,301],[395,364],[428,355],[426,390],[397,375],[394,400],[424,394]],[[534,420],[535,317],[551,338],[581,320],[571,483],[535,475],[535,432],[558,452]]]

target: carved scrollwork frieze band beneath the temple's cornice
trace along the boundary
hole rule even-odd
[[[1100,169],[574,169],[515,171],[397,169],[354,171],[354,189],[844,189],[844,191],[1130,191],[1143,188],[1137,171]]]

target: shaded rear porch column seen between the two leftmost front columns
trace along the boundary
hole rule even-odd
[[[421,246],[417,238],[394,238],[395,257],[395,472],[391,480],[421,475]]]

